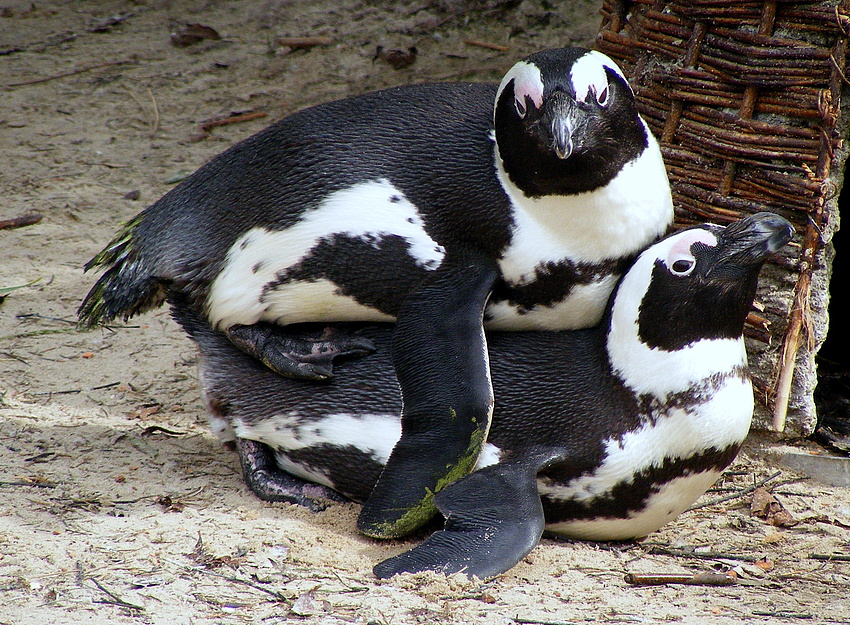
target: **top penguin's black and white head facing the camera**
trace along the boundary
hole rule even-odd
[[[603,187],[648,146],[622,72],[584,48],[544,50],[514,65],[499,85],[494,125],[505,172],[529,197]]]

